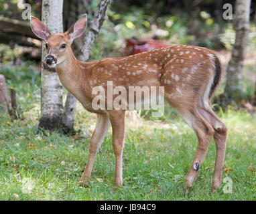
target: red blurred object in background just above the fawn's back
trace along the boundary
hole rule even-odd
[[[157,40],[141,41],[135,38],[129,38],[126,39],[125,56],[168,46],[170,45],[163,44]]]

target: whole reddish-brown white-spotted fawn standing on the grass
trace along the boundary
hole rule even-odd
[[[80,62],[74,57],[70,45],[84,33],[86,20],[85,14],[66,33],[52,34],[41,21],[31,17],[32,31],[46,41],[46,64],[56,69],[60,82],[86,110],[97,114],[88,162],[79,185],[88,184],[95,156],[109,124],[113,129],[115,152],[114,185],[123,185],[125,109],[115,106],[113,109],[95,109],[92,105],[96,96],[92,93],[94,86],[107,88],[107,82],[112,81],[114,86],[123,86],[127,90],[129,86],[164,86],[164,98],[179,112],[198,138],[196,155],[185,178],[186,187],[192,187],[213,137],[216,142],[216,160],[211,190],[218,188],[225,159],[227,127],[212,112],[210,104],[221,75],[220,61],[214,51],[191,45],[170,45],[124,58]],[[105,105],[109,102],[113,100],[106,100]]]

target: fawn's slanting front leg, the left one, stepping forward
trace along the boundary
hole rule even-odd
[[[88,185],[88,180],[90,179],[90,174],[92,173],[92,165],[95,160],[95,156],[103,142],[105,134],[109,129],[109,116],[107,114],[97,114],[97,122],[90,138],[90,154],[84,169],[84,173],[82,173],[82,177],[80,179],[79,185],[84,187]]]

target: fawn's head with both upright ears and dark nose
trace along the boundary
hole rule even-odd
[[[40,39],[46,41],[46,64],[50,68],[66,60],[66,54],[71,50],[71,43],[77,37],[80,37],[86,28],[87,16],[82,15],[65,33],[50,33],[47,27],[36,17],[31,16],[30,25],[32,31]]]

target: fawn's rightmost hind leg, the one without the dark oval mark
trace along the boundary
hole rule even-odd
[[[198,112],[212,125],[214,128],[214,140],[216,144],[216,160],[214,173],[212,177],[211,191],[217,189],[221,185],[222,171],[225,160],[226,140],[227,140],[227,126],[212,112],[211,109],[205,110],[198,108]]]

